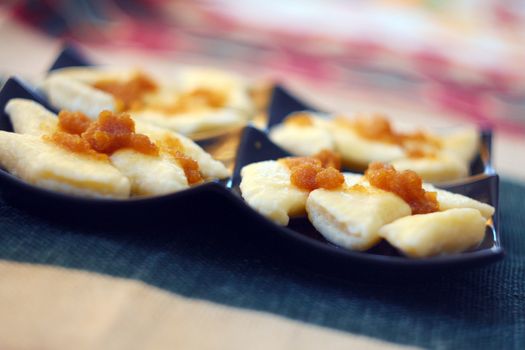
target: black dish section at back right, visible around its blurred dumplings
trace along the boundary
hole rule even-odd
[[[302,102],[297,97],[293,96],[282,86],[276,86],[272,92],[270,105],[268,108],[268,131],[271,127],[280,124],[289,114],[299,111],[314,111],[320,112],[318,109]],[[451,181],[450,184],[466,183],[475,181],[479,175],[494,175],[496,174],[492,167],[492,130],[481,131],[481,142],[478,154],[470,164],[470,176]]]

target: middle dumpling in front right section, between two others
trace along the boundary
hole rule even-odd
[[[328,241],[352,250],[374,246],[383,225],[411,213],[398,196],[359,185],[345,191],[315,190],[308,196],[306,211]]]

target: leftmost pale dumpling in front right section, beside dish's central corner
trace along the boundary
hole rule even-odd
[[[268,160],[242,168],[240,189],[244,200],[260,214],[286,226],[290,216],[304,214],[308,191],[292,185],[290,170]]]

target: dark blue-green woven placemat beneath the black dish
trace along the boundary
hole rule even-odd
[[[424,278],[326,276],[274,254],[249,231],[225,233],[234,228],[224,221],[85,228],[3,201],[0,258],[137,279],[192,298],[425,348],[522,349],[525,187],[502,181],[500,202],[505,259]]]

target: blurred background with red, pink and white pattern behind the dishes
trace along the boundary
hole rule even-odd
[[[2,3],[4,78],[42,74],[64,42],[97,63],[213,65],[279,81],[326,110],[493,128],[498,170],[525,179],[525,1]]]

